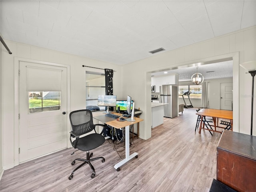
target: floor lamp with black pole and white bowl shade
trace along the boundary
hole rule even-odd
[[[252,135],[252,118],[253,118],[253,96],[254,96],[254,76],[256,74],[256,61],[249,61],[240,64],[240,66],[246,70],[252,76],[252,107],[251,107],[251,135]]]

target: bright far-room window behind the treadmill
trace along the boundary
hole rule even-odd
[[[190,91],[190,99],[201,99],[202,98],[202,85],[180,85],[179,86],[179,98],[182,95]]]

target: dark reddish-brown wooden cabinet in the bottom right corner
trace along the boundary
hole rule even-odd
[[[217,147],[217,180],[236,191],[256,191],[256,137],[224,130]]]

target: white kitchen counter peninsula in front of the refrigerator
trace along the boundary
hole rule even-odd
[[[168,103],[151,102],[152,110],[152,128],[164,123],[164,105]]]

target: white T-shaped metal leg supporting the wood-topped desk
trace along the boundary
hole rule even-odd
[[[138,153],[134,152],[130,155],[130,126],[125,127],[125,159],[115,164],[114,168],[117,171],[120,171],[120,166],[125,164],[126,162],[130,161],[132,158],[138,158]]]

